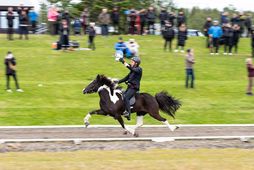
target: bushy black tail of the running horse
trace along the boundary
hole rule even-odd
[[[160,110],[175,118],[175,112],[181,106],[180,101],[170,96],[166,91],[157,93],[155,98],[159,104]]]

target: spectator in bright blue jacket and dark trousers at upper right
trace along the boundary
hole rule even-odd
[[[209,28],[208,34],[211,38],[210,54],[213,55],[215,52],[216,55],[219,55],[219,41],[222,36],[222,29],[217,20],[213,21],[213,26]]]

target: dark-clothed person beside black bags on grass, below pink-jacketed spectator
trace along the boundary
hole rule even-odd
[[[60,27],[60,44],[61,48],[66,50],[69,47],[69,34],[70,29],[66,19],[62,19],[62,25]]]

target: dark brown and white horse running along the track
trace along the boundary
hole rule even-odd
[[[136,112],[137,122],[133,129],[125,127],[121,117],[125,110],[121,88],[119,88],[112,79],[98,74],[96,78],[83,89],[83,94],[96,92],[98,92],[100,96],[100,109],[93,110],[84,117],[86,127],[90,125],[89,119],[91,118],[91,115],[111,116],[118,120],[124,129],[124,134],[130,133],[133,136],[138,137],[139,134],[136,132],[136,129],[143,125],[143,117],[148,113],[154,119],[165,124],[171,131],[179,128],[175,125],[170,125],[167,119],[161,117],[159,114],[159,110],[161,110],[172,118],[175,118],[175,112],[181,106],[180,101],[170,96],[166,91],[157,93],[155,97],[148,93],[137,93],[135,95],[136,102],[131,107],[131,113]]]

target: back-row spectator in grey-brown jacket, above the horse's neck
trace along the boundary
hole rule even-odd
[[[101,34],[103,36],[108,36],[108,25],[110,23],[110,15],[108,14],[108,10],[106,8],[102,9],[98,17],[99,23],[101,24]]]

